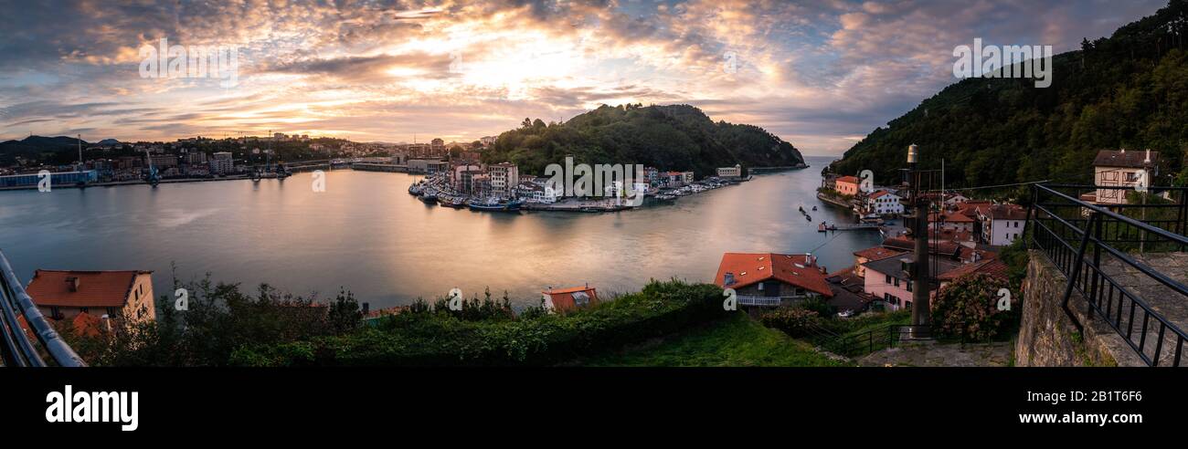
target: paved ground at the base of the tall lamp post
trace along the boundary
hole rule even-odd
[[[861,366],[1007,366],[1011,343],[905,343],[861,358]]]

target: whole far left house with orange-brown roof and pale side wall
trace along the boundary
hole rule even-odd
[[[25,291],[42,315],[87,324],[87,334],[103,316],[126,323],[157,318],[151,271],[37,270]]]

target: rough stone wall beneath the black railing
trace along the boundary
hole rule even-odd
[[[1087,320],[1085,297],[1073,291],[1068,308],[1083,331],[1061,308],[1067,278],[1048,258],[1031,251],[1023,282],[1023,322],[1015,346],[1016,366],[1144,366],[1121,336],[1104,321]]]

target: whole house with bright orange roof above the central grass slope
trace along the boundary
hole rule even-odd
[[[734,289],[739,305],[791,305],[808,298],[834,296],[826,270],[809,254],[726,253],[714,283]]]

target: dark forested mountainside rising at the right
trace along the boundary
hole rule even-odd
[[[1098,150],[1159,151],[1157,185],[1188,178],[1188,1],[1054,58],[1053,84],[968,78],[879,127],[828,170],[899,179],[908,145],[952,186],[1092,181]]]

